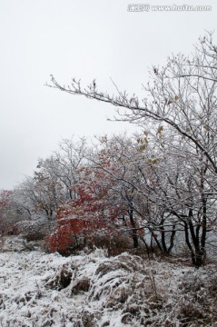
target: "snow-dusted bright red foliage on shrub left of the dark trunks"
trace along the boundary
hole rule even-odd
[[[120,205],[113,205],[108,189],[95,179],[85,179],[74,186],[74,200],[58,209],[57,228],[48,236],[50,251],[65,252],[78,244],[78,238],[94,243],[96,235],[107,235],[116,230],[115,220],[121,213]]]

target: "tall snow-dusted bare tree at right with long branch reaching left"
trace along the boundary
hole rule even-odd
[[[158,171],[153,169],[155,177],[149,183],[144,175],[143,187],[136,179],[124,182],[132,183],[133,193],[148,195],[149,205],[158,203],[164,208],[163,216],[165,211],[173,216],[173,222],[177,219],[181,223],[192,262],[200,266],[206,234],[216,223],[217,46],[213,45],[212,33],[199,39],[191,56],[172,55],[165,67],[153,66],[150,77],[150,83],[143,86],[143,99],[120,91],[115,84],[117,95],[104,93],[95,81],[83,87],[73,79],[65,86],[52,76],[48,86],[113,104],[119,114],[115,119],[139,124],[143,129],[149,126],[162,149]],[[141,177],[141,163],[133,164],[137,164]]]

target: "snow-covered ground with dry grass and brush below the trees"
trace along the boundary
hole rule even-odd
[[[24,252],[22,246],[21,241],[8,239],[0,253],[0,326],[215,326],[217,322],[214,264],[195,270],[180,261],[146,261],[129,253],[108,258],[100,249],[65,258],[58,253]]]

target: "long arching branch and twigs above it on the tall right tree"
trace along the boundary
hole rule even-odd
[[[209,169],[217,173],[216,149],[216,80],[217,53],[212,44],[212,34],[199,39],[192,57],[183,54],[168,58],[162,69],[153,66],[152,83],[143,86],[142,100],[133,94],[120,91],[110,95],[98,90],[95,81],[82,87],[80,80],[71,85],[59,84],[51,76],[50,87],[69,94],[84,95],[118,107],[117,120],[135,124],[163,123],[177,134],[197,146],[209,163]],[[209,144],[207,142],[209,141]]]

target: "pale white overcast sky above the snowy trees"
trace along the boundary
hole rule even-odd
[[[150,2],[147,2],[150,4]],[[0,189],[13,188],[73,134],[135,131],[107,122],[114,109],[45,87],[50,74],[69,84],[96,78],[99,88],[142,93],[148,68],[169,54],[190,54],[204,31],[216,28],[216,0],[206,12],[129,12],[126,0],[0,0]],[[146,2],[145,2],[146,4]],[[154,1],[152,5],[182,5]],[[217,39],[217,31],[214,35]]]

